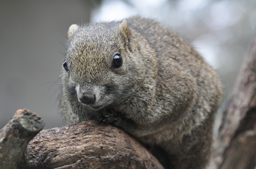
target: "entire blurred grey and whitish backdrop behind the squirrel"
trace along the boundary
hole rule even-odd
[[[44,129],[66,124],[58,95],[69,26],[131,15],[190,41],[218,70],[228,98],[254,34],[255,0],[0,0],[0,128],[22,108],[37,112]]]

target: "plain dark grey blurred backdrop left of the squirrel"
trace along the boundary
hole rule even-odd
[[[37,112],[45,128],[65,124],[57,100],[63,44],[71,24],[89,21],[89,7],[84,1],[1,1],[0,128],[22,108]]]

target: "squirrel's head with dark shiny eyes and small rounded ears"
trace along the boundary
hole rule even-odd
[[[148,71],[154,66],[148,55],[152,51],[147,42],[134,34],[126,20],[71,25],[64,83],[79,102],[93,109],[124,103],[147,77],[154,76],[155,71]]]

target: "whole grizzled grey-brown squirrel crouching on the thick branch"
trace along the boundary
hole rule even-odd
[[[74,24],[63,67],[60,108],[69,123],[120,127],[166,168],[207,165],[222,85],[180,36],[141,16]]]

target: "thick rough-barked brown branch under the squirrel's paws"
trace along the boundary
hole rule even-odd
[[[141,144],[100,121],[42,130],[27,146],[21,169],[163,168]]]

